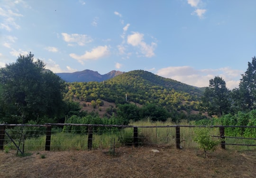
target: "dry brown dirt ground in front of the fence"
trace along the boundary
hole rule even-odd
[[[30,153],[0,151],[0,178],[256,178],[256,151],[218,149],[206,159],[201,150],[167,147]]]

